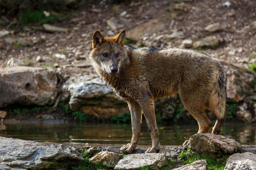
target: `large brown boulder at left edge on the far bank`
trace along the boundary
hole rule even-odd
[[[57,76],[51,68],[0,68],[0,108],[10,104],[52,104],[56,97]]]

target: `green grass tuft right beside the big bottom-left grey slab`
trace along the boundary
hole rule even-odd
[[[84,162],[80,162],[79,165],[72,167],[72,170],[99,170],[99,169],[111,169],[110,167],[102,164],[102,163],[93,163],[89,162],[90,155],[86,149],[78,150],[83,155]]]

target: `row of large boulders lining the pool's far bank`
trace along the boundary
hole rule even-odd
[[[225,61],[222,64],[226,68],[227,103],[230,108],[227,118],[256,122],[256,74]],[[4,112],[8,111],[7,108],[50,106],[54,111],[59,103],[68,103],[66,110],[84,113],[93,119],[110,119],[129,112],[127,104],[118,100],[95,73],[74,75],[68,79],[63,76],[52,68],[0,68],[0,108],[3,110],[0,118],[8,115]],[[156,113],[161,120],[193,119],[178,96],[156,101]],[[47,116],[37,118],[47,119]]]

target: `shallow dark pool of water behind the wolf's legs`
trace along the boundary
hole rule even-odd
[[[197,124],[169,123],[158,127],[161,145],[182,145],[198,131]],[[142,122],[141,131],[143,136],[139,145],[151,145],[145,122]],[[224,122],[221,133],[233,136],[241,144],[256,145],[256,124]],[[0,136],[39,142],[127,144],[132,137],[132,129],[130,124],[112,123],[0,123]]]

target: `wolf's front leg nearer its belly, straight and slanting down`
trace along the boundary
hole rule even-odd
[[[146,118],[148,131],[150,132],[152,139],[152,147],[149,148],[145,153],[158,153],[160,151],[158,142],[159,131],[157,128],[157,121],[155,116],[154,100],[144,100],[143,102],[140,102],[140,107]]]

